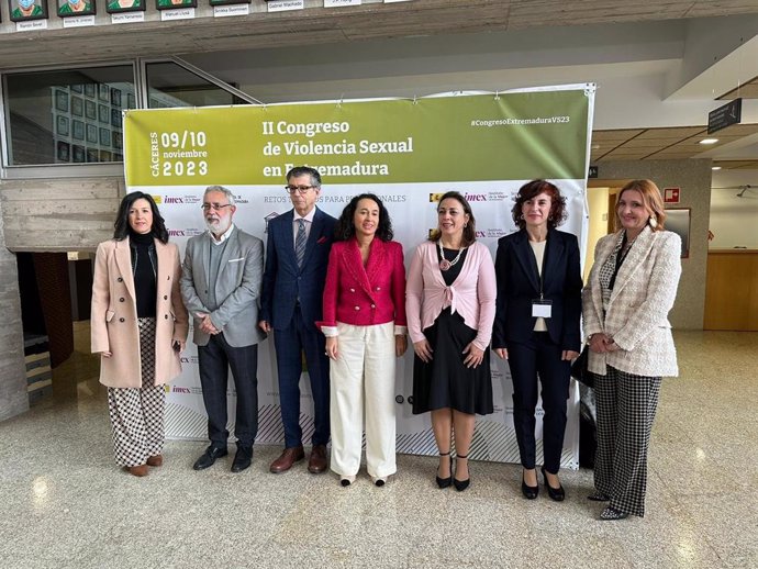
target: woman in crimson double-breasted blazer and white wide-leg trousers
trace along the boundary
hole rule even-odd
[[[331,380],[331,469],[355,481],[366,411],[366,467],[384,486],[397,471],[394,370],[405,339],[405,267],[392,224],[371,193],[353,198],[337,222],[324,287]]]

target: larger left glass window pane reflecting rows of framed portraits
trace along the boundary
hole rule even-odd
[[[121,114],[136,108],[132,65],[4,80],[9,166],[123,160]]]

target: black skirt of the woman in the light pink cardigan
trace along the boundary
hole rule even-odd
[[[428,364],[414,356],[413,413],[446,408],[478,415],[492,413],[490,348],[478,367],[467,368],[464,364],[464,348],[477,337],[477,331],[447,308],[424,335],[434,353]]]

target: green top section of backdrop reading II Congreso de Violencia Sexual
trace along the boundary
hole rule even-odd
[[[127,111],[127,186],[583,179],[582,89]],[[493,159],[493,156],[497,158]]]

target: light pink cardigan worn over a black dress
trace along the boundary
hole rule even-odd
[[[437,244],[426,241],[416,247],[408,271],[408,335],[414,344],[421,342],[426,337],[424,330],[450,306],[468,327],[477,331],[473,344],[487,349],[492,337],[495,294],[494,266],[487,245],[477,242],[469,246],[460,275],[448,287],[439,272]]]

